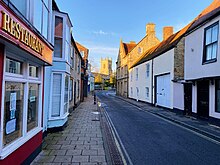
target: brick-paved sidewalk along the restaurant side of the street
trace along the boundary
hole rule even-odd
[[[73,111],[64,131],[49,133],[35,164],[106,165],[106,155],[97,107],[88,96]]]

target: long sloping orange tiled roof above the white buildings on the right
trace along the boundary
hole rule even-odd
[[[160,42],[156,46],[147,50],[136,60],[136,62],[130,67],[135,67],[139,64],[142,64],[150,59],[153,59],[164,52],[172,49],[176,44],[181,40],[181,38],[190,30],[196,28],[201,23],[220,12],[220,0],[214,0],[210,6],[208,6],[205,10],[201,12],[191,23],[185,26],[183,29],[178,31],[177,33],[171,35],[166,40]]]

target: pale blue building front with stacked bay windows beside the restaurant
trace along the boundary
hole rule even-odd
[[[45,69],[44,130],[62,128],[69,115],[69,83],[71,76],[71,28],[67,13],[53,6],[53,66]]]

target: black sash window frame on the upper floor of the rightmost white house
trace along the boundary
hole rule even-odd
[[[209,29],[212,29],[213,27],[215,26],[218,26],[218,32],[217,32],[217,41],[215,42],[212,42],[208,45],[206,45],[206,32],[209,30]],[[211,36],[212,37],[212,36]],[[206,50],[207,50],[207,47],[210,46],[210,45],[213,45],[217,43],[217,54],[216,54],[216,58],[213,58],[213,59],[210,59],[210,60],[206,60],[207,58],[207,55],[206,55]],[[219,43],[219,21],[209,25],[208,27],[206,27],[204,29],[204,41],[203,41],[203,57],[202,57],[202,64],[209,64],[209,63],[213,63],[213,62],[216,62],[217,61],[217,56],[218,56],[218,43]]]

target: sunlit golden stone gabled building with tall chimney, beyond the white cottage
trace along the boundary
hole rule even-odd
[[[116,91],[117,94],[123,97],[128,97],[128,68],[139,59],[147,50],[159,43],[156,37],[155,24],[148,23],[146,25],[146,36],[137,44],[120,43],[118,61],[116,62]]]

